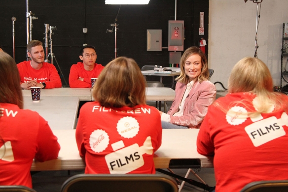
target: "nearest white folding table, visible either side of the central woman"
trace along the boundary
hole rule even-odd
[[[198,154],[196,138],[199,129],[163,129],[162,145],[154,154],[155,168],[213,167],[213,159]],[[75,129],[53,130],[61,146],[57,160],[33,161],[32,171],[84,169],[85,162],[79,156]],[[191,163],[187,165],[187,160]],[[171,164],[173,162],[173,165]],[[195,163],[195,164],[194,164]]]

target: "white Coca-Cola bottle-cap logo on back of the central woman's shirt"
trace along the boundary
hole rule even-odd
[[[96,153],[103,152],[109,144],[109,136],[105,130],[94,130],[89,138],[89,144],[92,151]]]

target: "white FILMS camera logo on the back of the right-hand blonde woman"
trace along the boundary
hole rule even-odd
[[[269,117],[254,122],[245,128],[253,145],[258,147],[276,138],[286,135],[282,126],[288,126],[288,115],[284,112],[280,119]]]

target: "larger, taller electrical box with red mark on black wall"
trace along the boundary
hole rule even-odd
[[[168,51],[183,51],[184,21],[169,21]]]

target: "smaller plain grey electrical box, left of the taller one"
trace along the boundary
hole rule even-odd
[[[162,51],[162,30],[147,30],[147,51]]]

